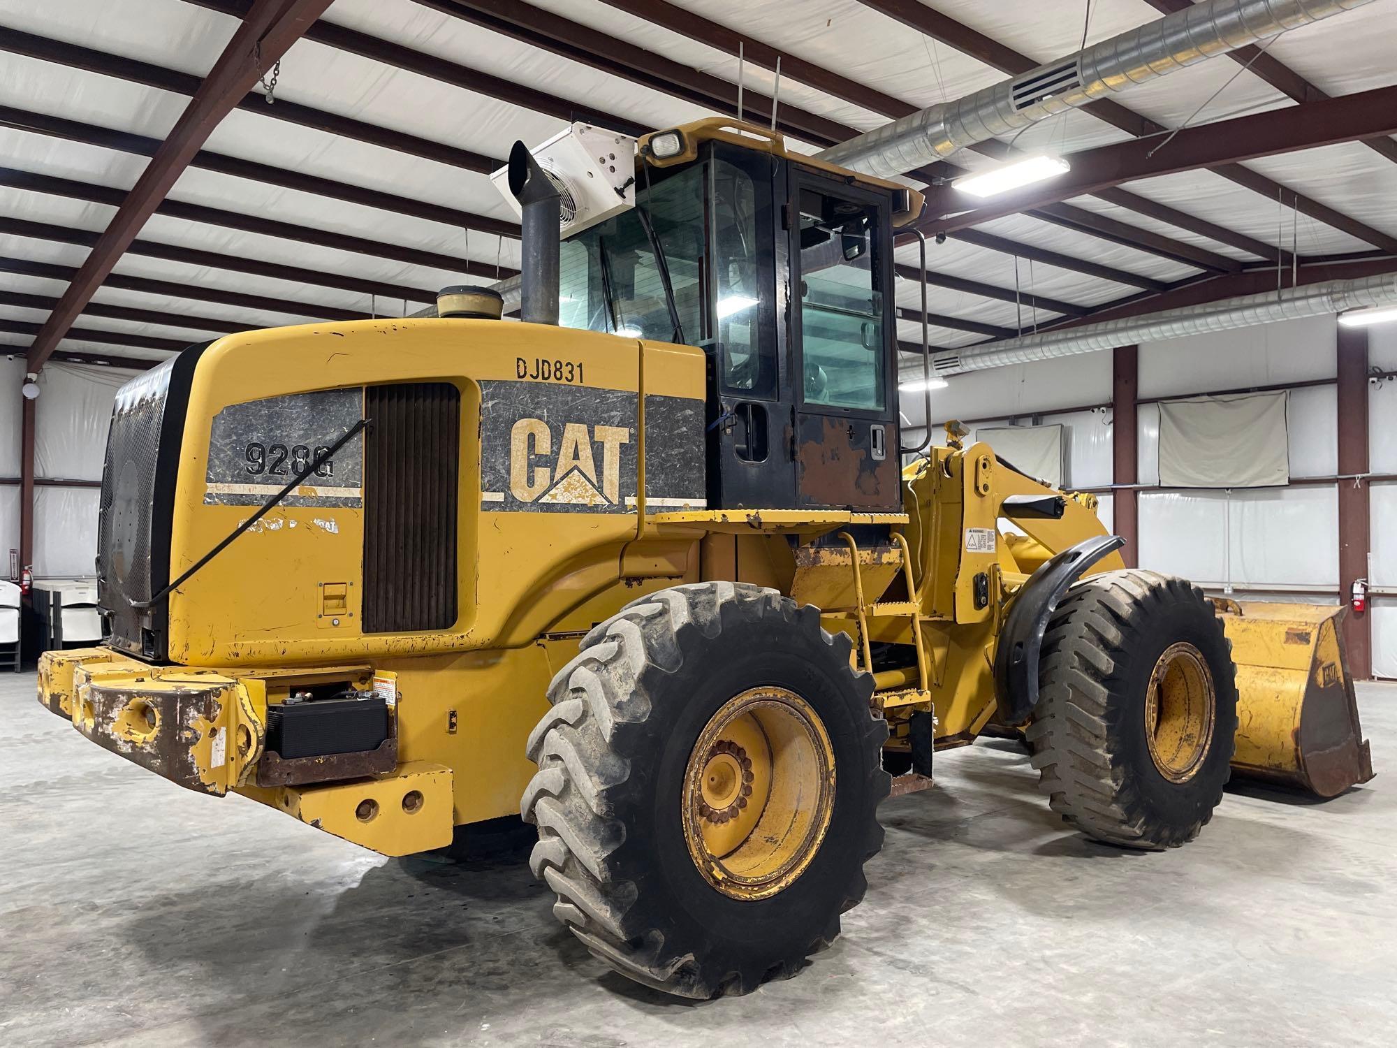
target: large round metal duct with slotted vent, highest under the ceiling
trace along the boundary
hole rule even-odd
[[[817,154],[895,177],[957,150],[1014,134],[1185,66],[1268,41],[1372,0],[1211,0],[1049,61],[972,95],[940,102]]]

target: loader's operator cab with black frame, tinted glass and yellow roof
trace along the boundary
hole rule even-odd
[[[562,242],[559,323],[705,351],[711,509],[900,510],[893,228],[921,196],[728,120],[645,136],[636,180]]]

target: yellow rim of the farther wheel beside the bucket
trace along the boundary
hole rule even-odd
[[[1144,734],[1160,774],[1187,783],[1213,745],[1217,689],[1203,653],[1171,644],[1154,664],[1144,703]]]

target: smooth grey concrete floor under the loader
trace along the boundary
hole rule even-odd
[[[521,864],[384,859],[179,789],[0,679],[0,1044],[1397,1042],[1397,686],[1359,689],[1379,778],[1234,788],[1180,851],[1097,845],[1013,745],[883,806],[844,938],[705,1003],[609,973]]]

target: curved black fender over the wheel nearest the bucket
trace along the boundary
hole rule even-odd
[[[1126,541],[1119,535],[1095,535],[1065,549],[1034,572],[1014,594],[999,630],[995,648],[995,700],[999,720],[1021,724],[1038,704],[1038,657],[1048,619],[1074,581]]]

